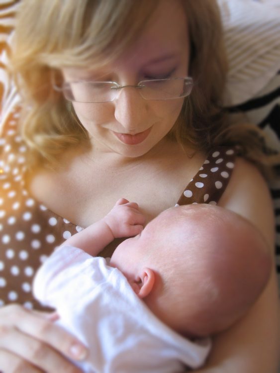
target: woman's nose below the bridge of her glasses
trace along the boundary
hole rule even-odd
[[[145,100],[139,88],[121,88],[114,100],[115,118],[125,128],[127,133],[138,133],[145,130],[145,118],[148,113],[148,101]]]

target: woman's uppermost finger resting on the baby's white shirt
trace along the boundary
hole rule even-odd
[[[87,349],[75,337],[54,324],[52,319],[48,319],[45,314],[40,315],[39,312],[26,310],[17,305],[5,308],[6,313],[10,308],[8,316],[5,317],[6,325],[13,325],[26,336],[44,342],[71,359],[83,360],[86,357]]]

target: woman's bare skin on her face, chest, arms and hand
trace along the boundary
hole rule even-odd
[[[170,61],[152,61],[174,53],[176,49],[179,54],[185,51],[176,57],[182,69],[178,76],[184,76],[188,52],[186,39],[182,36],[186,31],[186,19],[180,1],[163,0],[152,21],[125,56],[94,74],[121,85],[135,85],[147,74],[167,72],[165,68],[168,70],[171,66],[164,64]],[[166,27],[167,23],[169,27]],[[80,77],[80,71],[76,69],[64,70],[64,74],[66,79]],[[106,215],[120,195],[137,200],[147,221],[151,220],[162,210],[175,205],[205,159],[202,152],[196,152],[190,158],[193,149],[184,152],[165,137],[181,105],[180,99],[165,103],[144,101],[137,90],[124,89],[112,103],[88,105],[87,108],[76,106],[80,120],[89,130],[92,147],[85,150],[81,146],[65,152],[55,171],[36,170],[30,178],[30,192],[55,213],[83,227]],[[115,131],[134,135],[149,128],[149,135],[139,146],[124,144],[113,134]],[[252,165],[238,160],[219,205],[255,224],[270,243],[273,256],[272,202],[266,183]],[[111,253],[111,249],[103,254]],[[250,314],[215,339],[209,362],[199,372],[275,372],[279,319],[277,282],[273,273]],[[31,325],[39,327],[32,328]],[[0,310],[0,367],[3,371],[78,372],[63,358],[63,355],[69,355],[72,342],[72,336],[52,325],[44,315],[14,305]]]

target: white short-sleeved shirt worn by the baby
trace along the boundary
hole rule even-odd
[[[81,249],[56,250],[37,272],[33,292],[56,308],[58,323],[90,350],[86,373],[171,373],[200,367],[210,340],[191,342],[161,322],[106,260]]]

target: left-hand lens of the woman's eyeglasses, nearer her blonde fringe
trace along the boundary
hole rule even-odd
[[[73,102],[108,102],[116,95],[113,82],[69,82],[63,85],[66,99]]]

